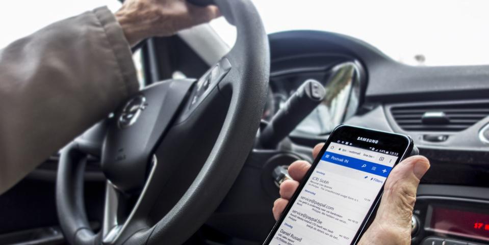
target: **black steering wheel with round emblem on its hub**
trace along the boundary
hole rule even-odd
[[[181,244],[236,180],[266,101],[269,46],[249,0],[214,4],[237,29],[227,55],[198,80],[165,80],[141,90],[62,150],[56,203],[69,243]],[[100,157],[107,177],[97,233],[84,208],[88,155]]]

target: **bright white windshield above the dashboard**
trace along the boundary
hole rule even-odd
[[[319,30],[361,39],[409,65],[489,64],[486,0],[252,0],[267,33]],[[236,32],[211,23],[230,45]]]

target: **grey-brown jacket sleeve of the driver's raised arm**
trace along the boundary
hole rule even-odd
[[[105,7],[0,50],[0,194],[138,89],[130,47]]]

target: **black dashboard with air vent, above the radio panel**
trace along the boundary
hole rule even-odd
[[[343,123],[410,135],[432,161],[427,183],[489,187],[489,66],[407,66],[361,40],[325,32],[277,33],[270,44],[275,101],[307,79],[324,82],[335,65],[354,62],[361,67],[361,92],[355,114]],[[327,136],[306,130],[290,135],[309,146]]]

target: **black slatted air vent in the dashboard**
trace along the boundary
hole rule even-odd
[[[393,106],[391,113],[405,131],[456,132],[489,116],[489,102]]]

